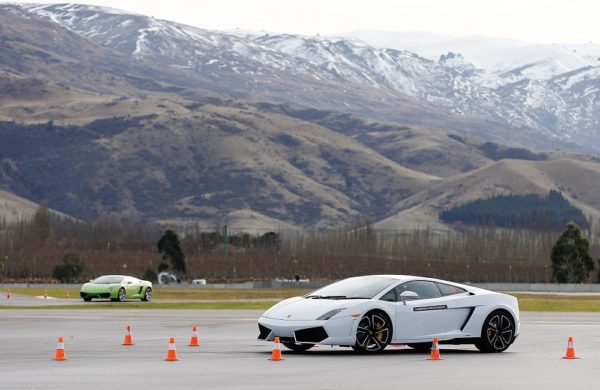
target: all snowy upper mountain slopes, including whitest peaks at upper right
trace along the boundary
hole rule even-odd
[[[87,5],[10,7],[135,59],[193,72],[213,81],[217,92],[223,88],[243,97],[260,94],[308,105],[319,104],[315,96],[331,96],[340,110],[371,115],[381,113],[379,104],[393,110],[394,99],[409,97],[490,123],[490,137],[504,126],[512,133],[495,137],[518,143],[528,134],[533,142],[555,138],[600,149],[595,46],[585,55],[562,47],[540,49],[540,54],[506,41],[475,56],[477,42],[461,46],[447,40],[444,46],[430,35],[425,49],[408,47],[415,54],[399,50],[401,40],[395,47],[378,47],[373,39],[210,31]],[[434,47],[446,49],[434,56],[441,50]],[[485,125],[477,128],[480,136],[485,131]]]

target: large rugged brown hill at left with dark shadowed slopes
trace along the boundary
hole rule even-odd
[[[106,105],[114,114],[137,107],[148,115],[80,123],[102,118]],[[47,107],[30,106],[41,124],[0,123],[0,152],[12,167],[3,183],[82,217],[119,212],[217,224],[254,210],[328,226],[381,218],[389,204],[439,181],[338,132],[250,105],[91,96]],[[58,112],[62,119],[48,122]]]

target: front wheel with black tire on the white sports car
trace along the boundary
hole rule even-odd
[[[387,314],[370,311],[358,322],[356,343],[352,349],[360,353],[381,352],[392,341],[392,331],[392,322]]]

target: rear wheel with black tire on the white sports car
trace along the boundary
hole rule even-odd
[[[481,338],[475,347],[481,352],[506,351],[515,340],[515,320],[504,310],[491,312],[481,328]]]

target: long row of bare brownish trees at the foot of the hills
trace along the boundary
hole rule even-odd
[[[590,259],[600,256],[600,224],[592,222],[584,231],[577,229],[587,240]],[[381,231],[370,224],[254,234],[199,228],[165,232],[144,221],[114,216],[85,223],[63,220],[41,205],[31,221],[0,221],[0,278],[35,282],[66,274],[63,279],[85,280],[100,274],[144,277],[171,270],[182,278],[213,281],[398,273],[469,282],[595,282],[594,261],[582,255],[569,260],[568,245],[553,250],[559,236],[552,230],[493,225],[443,232]],[[584,259],[583,266],[579,259]],[[79,273],[66,272],[73,268]]]

